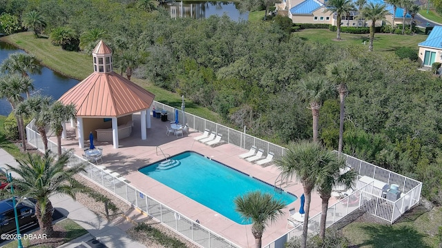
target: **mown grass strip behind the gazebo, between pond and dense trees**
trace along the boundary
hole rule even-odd
[[[81,52],[61,50],[59,46],[52,45],[49,39],[35,39],[32,32],[12,34],[7,37],[2,37],[1,40],[34,54],[43,65],[70,78],[83,80],[93,72],[92,56]],[[133,81],[155,94],[155,101],[173,107],[181,107],[181,96],[178,94],[156,87],[147,80],[135,79],[133,77]],[[189,99],[185,100],[186,112],[222,123],[220,116],[215,112],[195,105],[192,101],[189,101]]]

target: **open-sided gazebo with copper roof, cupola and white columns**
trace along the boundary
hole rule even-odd
[[[113,72],[112,50],[103,41],[92,55],[93,74],[58,100],[75,105],[79,147],[84,147],[84,140],[93,132],[98,141],[113,141],[113,147],[118,148],[119,138],[131,135],[132,114],[136,112],[141,112],[141,138],[145,140],[155,95]]]

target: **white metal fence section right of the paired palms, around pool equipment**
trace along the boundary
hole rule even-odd
[[[375,189],[373,183],[369,183],[328,208],[326,227],[330,227],[356,209],[362,209],[378,218],[394,223],[405,211],[419,204],[422,183],[418,180],[391,172],[388,169],[383,169],[371,163],[361,161],[347,154],[343,155],[347,158],[347,165],[359,174],[358,178],[361,178],[361,176],[369,176],[383,183],[387,183],[387,185],[396,184],[403,194],[401,194],[401,198],[396,201],[387,200],[378,194],[374,194]],[[321,213],[309,218],[309,233],[317,234],[319,232],[320,216]],[[265,248],[282,248],[285,242],[288,242],[295,236],[301,235],[302,224],[294,227],[294,229],[291,229],[280,238],[270,242]]]

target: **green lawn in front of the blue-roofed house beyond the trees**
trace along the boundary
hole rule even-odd
[[[307,41],[318,43],[336,43],[340,46],[360,45],[361,49],[368,50],[369,34],[346,34],[340,33],[341,41],[336,41],[336,32],[327,29],[305,29],[294,33],[295,36]],[[398,34],[374,34],[373,48],[376,52],[389,52],[397,48],[407,47],[418,50],[417,44],[425,41],[427,35],[398,35]],[[363,44],[365,41],[365,45]]]

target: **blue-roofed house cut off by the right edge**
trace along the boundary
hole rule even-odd
[[[419,61],[423,66],[431,67],[434,62],[442,63],[442,26],[434,26],[427,39],[418,46]]]

